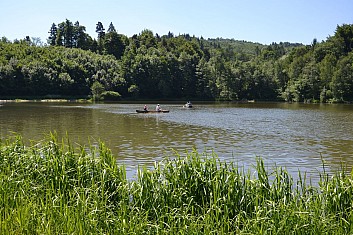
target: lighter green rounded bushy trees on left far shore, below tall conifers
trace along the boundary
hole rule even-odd
[[[118,62],[80,49],[35,47],[0,43],[0,94],[2,97],[90,95],[99,81],[106,90],[119,92],[124,80]]]

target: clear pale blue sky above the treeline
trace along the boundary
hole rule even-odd
[[[48,31],[69,19],[96,38],[98,21],[128,37],[188,33],[270,44],[321,42],[337,25],[353,24],[353,0],[0,0],[0,37],[46,42]]]

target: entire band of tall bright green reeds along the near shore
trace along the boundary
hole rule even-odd
[[[14,135],[0,142],[0,233],[351,234],[352,175],[298,176],[191,151],[129,180],[104,143]]]

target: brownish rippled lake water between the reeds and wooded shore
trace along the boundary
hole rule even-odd
[[[2,103],[0,137],[12,132],[42,140],[50,131],[77,145],[103,141],[126,165],[152,166],[173,151],[214,151],[225,161],[249,167],[261,156],[267,166],[317,174],[353,165],[353,106],[221,103],[161,104],[164,114],[137,114],[143,104]],[[154,104],[149,105],[154,108]]]

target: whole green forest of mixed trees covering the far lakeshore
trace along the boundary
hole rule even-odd
[[[48,38],[0,40],[0,98],[353,101],[353,25],[310,45],[189,34],[128,37],[65,21]]]

